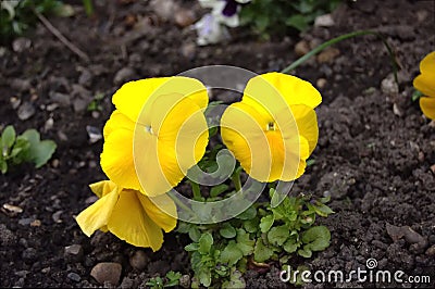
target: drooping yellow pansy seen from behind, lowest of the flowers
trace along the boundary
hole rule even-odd
[[[76,217],[88,237],[97,229],[109,230],[130,244],[157,251],[163,243],[162,229],[167,233],[176,226],[176,218],[159,209],[176,215],[176,206],[166,194],[151,201],[141,192],[123,189],[111,180],[92,184],[90,188],[100,199]]]

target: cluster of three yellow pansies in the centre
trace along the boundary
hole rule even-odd
[[[100,198],[76,218],[83,231],[111,231],[134,246],[159,250],[176,226],[166,194],[206,152],[206,87],[188,77],[125,84],[103,130],[101,167],[110,180],[90,186]],[[221,135],[243,168],[259,181],[294,180],[318,142],[315,88],[295,76],[251,78],[240,102],[221,118]]]

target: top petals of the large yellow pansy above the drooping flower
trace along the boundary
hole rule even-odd
[[[207,89],[199,80],[174,76],[127,83],[115,92],[112,102],[120,112],[136,122],[149,101],[171,93],[190,97],[200,108],[206,108],[209,101]]]

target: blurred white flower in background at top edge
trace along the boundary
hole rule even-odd
[[[228,29],[225,27],[237,27],[239,18],[237,12],[240,4],[251,0],[199,0],[203,8],[212,11],[207,13],[195,24],[198,33],[197,43],[199,46],[214,45],[229,38]]]

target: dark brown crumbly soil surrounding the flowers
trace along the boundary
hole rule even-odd
[[[315,163],[291,193],[330,194],[335,214],[316,221],[332,233],[330,248],[311,259],[295,256],[289,265],[349,274],[368,269],[366,261],[374,259],[373,271],[402,271],[403,280],[431,278],[426,284],[376,282],[365,275],[365,281],[352,278],[307,288],[435,287],[435,125],[411,101],[419,62],[434,50],[434,2],[349,1],[332,14],[330,27],[269,41],[236,29],[232,40],[209,47],[197,47],[187,26],[204,12],[196,1],[158,2],[163,1],[95,1],[95,15],[87,17],[76,1],[71,2],[74,16],[50,17],[89,60],[71,52],[41,24],[0,49],[0,125],[13,124],[18,133],[37,128],[58,143],[44,167],[24,165],[0,175],[0,286],[111,287],[90,276],[100,262],[120,263],[116,286],[127,288],[145,287],[149,278],[171,269],[192,276],[183,250],[187,236],[167,234],[163,248],[152,253],[111,234],[88,238],[74,219],[96,200],[88,185],[105,179],[98,135],[114,109],[113,92],[127,80],[210,64],[281,71],[301,53],[295,49],[300,41],[316,46],[370,28],[383,33],[395,52],[398,89],[388,53],[374,36],[343,41],[293,73],[314,84],[323,103],[316,109]],[[87,110],[97,95],[103,96],[97,100],[99,109]],[[214,99],[238,97],[217,93]],[[248,271],[247,287],[291,287],[279,280],[281,266]]]

